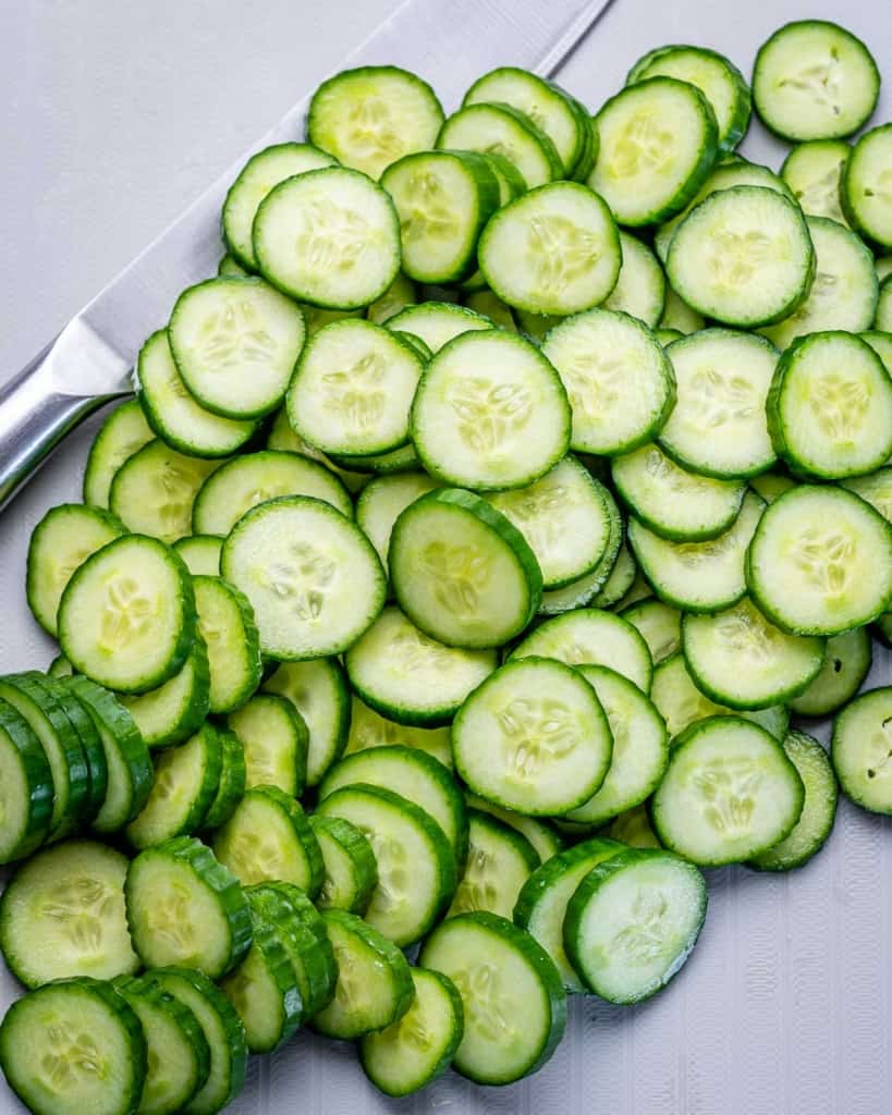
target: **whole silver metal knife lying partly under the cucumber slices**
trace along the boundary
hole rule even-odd
[[[552,77],[612,0],[404,0],[340,68],[395,65],[434,78],[447,101],[481,72],[523,66]],[[444,65],[445,64],[445,65]],[[252,151],[300,135],[311,94]],[[0,510],[84,418],[133,390],[144,339],[176,295],[216,272],[220,211],[250,152],[89,302],[0,391]]]

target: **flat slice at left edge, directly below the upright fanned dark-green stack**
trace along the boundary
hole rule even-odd
[[[45,849],[22,864],[0,901],[0,949],[16,978],[35,988],[135,972],[126,875],[126,856],[84,840]]]

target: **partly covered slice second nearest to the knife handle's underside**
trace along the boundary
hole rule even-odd
[[[149,442],[115,473],[112,512],[129,531],[176,542],[192,534],[195,496],[220,464],[187,457],[159,439]]]

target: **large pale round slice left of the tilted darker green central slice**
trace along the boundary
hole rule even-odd
[[[307,496],[249,511],[223,543],[220,568],[254,610],[261,651],[277,659],[346,650],[375,622],[387,592],[366,535]]]

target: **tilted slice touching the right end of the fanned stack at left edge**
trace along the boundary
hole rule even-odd
[[[223,769],[216,730],[206,724],[188,743],[161,752],[155,780],[143,811],[127,825],[136,849],[194,833],[216,795]]]

